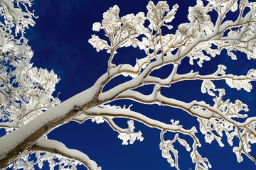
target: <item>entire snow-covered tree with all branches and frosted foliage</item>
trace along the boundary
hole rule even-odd
[[[239,61],[237,52],[247,55],[247,60],[255,60],[256,3],[246,0],[196,2],[196,6],[188,8],[189,22],[181,23],[175,33],[170,31],[174,28],[172,21],[178,4],[170,8],[166,1],[157,4],[149,1],[146,14],[139,12],[122,17],[117,5],[109,8],[103,13],[102,22],[92,26],[92,30],[104,33],[105,37],[92,35],[89,40],[97,52],[106,50],[109,55],[105,74],[89,89],[60,103],[58,97],[53,96],[55,84],[59,81],[57,75],[31,64],[33,52],[27,44],[25,30],[35,24],[32,1],[0,0],[0,128],[6,132],[0,137],[0,169],[8,166],[31,169],[35,164],[42,167],[44,161],[50,164],[50,169],[57,165],[73,169],[78,164],[87,169],[101,169],[87,154],[47,138],[48,133],[60,125],[70,121],[84,123],[86,120],[110,125],[118,133],[122,145],[144,140],[142,132],[135,130],[136,122],[158,129],[161,156],[176,169],[179,169],[178,150],[174,142],[190,152],[195,169],[211,168],[207,155],[198,151],[201,147],[199,131],[206,142],[215,140],[220,147],[224,146],[223,133],[231,146],[236,138],[239,144],[233,147],[233,152],[238,162],[242,162],[242,156],[245,156],[256,164],[250,154],[251,145],[256,142],[256,117],[248,117],[250,113],[245,114],[249,111],[245,103],[239,99],[235,102],[225,99],[225,88],[215,85],[215,82],[224,80],[230,88],[250,92],[252,82],[256,80],[256,68],[247,70],[245,75],[226,73],[228,65],[224,64],[218,64],[215,71],[208,74],[193,70],[178,72],[181,62],[187,57],[189,64],[196,62],[199,67],[204,67],[204,62],[213,57],[222,57],[221,52],[227,52],[232,60]],[[215,12],[215,17],[211,16],[212,12]],[[238,16],[234,20],[227,19],[228,13],[232,12],[237,12]],[[115,57],[119,57],[119,48],[131,46],[142,50],[144,55],[136,57],[133,64],[114,63]],[[166,71],[167,77],[154,74],[166,66],[170,68]],[[126,79],[107,88],[117,77]],[[162,89],[171,89],[181,81],[201,81],[202,94],[208,94],[213,104],[196,100],[185,102],[164,94]],[[149,86],[154,88],[149,94],[144,94],[142,89]],[[196,117],[198,124],[186,129],[171,116],[171,122],[164,123],[149,118],[132,106],[117,106],[113,104],[115,101],[178,108]],[[128,119],[127,128],[121,128],[115,122],[120,118]],[[174,138],[167,140],[169,137],[165,134],[168,133],[173,133]],[[193,142],[183,136],[188,136]],[[29,159],[29,154],[36,154],[35,162]]]

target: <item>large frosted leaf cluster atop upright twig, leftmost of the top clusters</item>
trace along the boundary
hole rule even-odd
[[[146,17],[143,12],[128,14],[119,18],[119,7],[113,6],[103,13],[102,23],[94,23],[92,30],[105,31],[105,34],[110,38],[110,44],[97,35],[92,35],[89,42],[96,48],[97,51],[107,50],[107,52],[116,53],[119,47],[129,47],[130,45],[137,47],[137,36],[144,33],[144,21]]]

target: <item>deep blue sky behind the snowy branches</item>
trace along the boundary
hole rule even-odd
[[[155,1],[156,2],[156,1]],[[92,23],[102,21],[102,13],[108,8],[117,4],[121,10],[120,16],[127,13],[138,13],[146,10],[148,1],[130,0],[130,1],[103,1],[103,0],[43,0],[34,1],[33,8],[36,10],[36,26],[27,31],[29,44],[34,51],[33,63],[37,67],[53,69],[60,77],[60,83],[56,86],[56,93],[60,92],[61,101],[78,94],[92,84],[107,70],[107,55],[105,52],[96,52],[87,40],[93,33]],[[180,8],[174,19],[174,29],[178,23],[188,21],[188,6],[195,4],[195,1],[169,1],[169,6],[178,3]],[[144,55],[138,49],[129,48],[120,50],[117,59],[114,62],[134,62],[136,57]],[[213,63],[206,62],[202,69],[195,66],[188,66],[188,60],[183,63],[183,69],[178,72],[189,72],[190,69],[201,72],[213,72],[217,64],[230,64],[228,72],[235,74],[245,74],[246,70],[255,67],[256,62],[247,62],[244,56],[239,56],[238,61],[231,61],[225,52],[222,56],[213,60]],[[165,68],[168,69],[168,68]],[[164,70],[160,74],[164,74]],[[159,74],[159,73],[155,73]],[[218,84],[219,86],[224,86]],[[256,85],[254,83],[254,85]],[[164,89],[166,96],[178,98],[184,101],[209,100],[207,94],[201,94],[201,81],[189,81],[178,83],[171,86],[171,89]],[[248,94],[246,91],[236,91],[227,89],[227,94],[235,101],[239,98],[241,101],[248,103],[250,115],[256,115],[255,106],[255,89]],[[211,99],[209,100],[212,104]],[[121,105],[127,104],[128,101],[119,102]],[[176,109],[134,105],[133,109],[142,111],[150,118],[156,118],[169,123],[171,119],[181,119],[185,128],[191,128],[197,123],[195,118],[191,118],[183,111]],[[125,125],[127,120],[121,120],[120,125]],[[195,124],[197,125],[197,124]],[[161,157],[159,149],[159,130],[146,128],[140,123],[135,123],[136,130],[141,130],[144,136],[143,142],[135,142],[134,145],[122,146],[122,140],[117,139],[117,132],[102,123],[97,125],[90,120],[78,125],[78,123],[68,123],[63,125],[48,135],[50,139],[64,142],[67,147],[80,149],[88,156],[95,160],[97,164],[105,170],[122,169],[122,170],[141,170],[141,169],[171,169],[166,159]],[[123,128],[126,128],[125,126]],[[169,135],[173,136],[173,135]],[[166,140],[167,137],[166,135]],[[218,146],[217,142],[211,145],[203,142],[201,132],[198,132],[203,147],[198,149],[202,156],[208,157],[213,169],[255,169],[255,164],[244,157],[240,164],[236,162],[235,154],[229,145],[224,148]],[[171,138],[170,138],[171,140]],[[225,140],[225,137],[223,137]],[[226,143],[226,142],[225,142]],[[235,145],[238,145],[235,142]],[[193,168],[194,165],[189,157],[189,152],[183,147],[179,147],[179,164],[180,169]],[[255,154],[255,146],[252,147]],[[48,169],[48,166],[44,166]],[[83,169],[80,166],[78,169]]]

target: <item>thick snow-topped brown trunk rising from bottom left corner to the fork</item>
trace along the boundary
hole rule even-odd
[[[0,169],[14,162],[20,154],[26,154],[43,135],[48,134],[48,132],[57,128],[59,125],[68,123],[68,121],[78,115],[83,109],[98,106],[100,101],[95,101],[94,98],[91,98],[94,93],[95,91],[88,89],[68,99],[68,101],[64,101],[54,108],[50,108],[14,132],[1,137]]]

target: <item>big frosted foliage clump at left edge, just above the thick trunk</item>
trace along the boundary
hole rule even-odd
[[[7,71],[0,76],[1,120],[14,122],[14,128],[59,103],[58,98],[51,96],[58,77],[53,71],[33,67],[30,63],[33,52],[27,45],[22,46],[22,51],[16,47],[16,52],[3,54],[0,59],[1,70]]]

